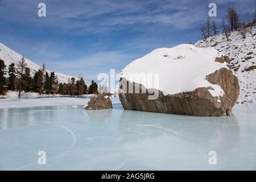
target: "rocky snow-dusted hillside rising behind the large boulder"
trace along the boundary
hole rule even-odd
[[[212,36],[207,40],[195,43],[197,47],[214,47],[222,54],[229,56],[231,69],[238,77],[240,96],[238,102],[256,101],[256,27],[248,28],[246,38],[238,31],[231,32],[229,41],[225,35]]]

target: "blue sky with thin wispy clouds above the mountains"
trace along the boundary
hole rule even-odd
[[[46,17],[38,16],[40,2]],[[0,42],[52,71],[96,80],[155,48],[201,39],[210,2],[218,23],[229,6],[253,18],[255,0],[0,0]]]

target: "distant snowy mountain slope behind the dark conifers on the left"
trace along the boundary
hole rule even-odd
[[[6,64],[7,67],[11,63],[15,63],[15,65],[17,65],[21,58],[22,58],[22,55],[20,55],[19,53],[16,53],[15,51],[10,49],[9,47],[0,43],[0,59],[5,61],[5,64]],[[34,62],[32,62],[29,59],[26,59],[26,63],[27,63],[27,67],[30,68],[31,76],[33,76],[34,73],[36,71],[38,71],[38,69],[42,68],[38,64],[35,64]],[[47,72],[51,72],[51,71],[47,70]],[[64,75],[62,73],[55,73],[55,74],[57,75],[57,78],[58,78],[59,82],[67,83],[68,80],[72,78],[72,76]],[[90,85],[90,83],[86,81],[86,85]]]

